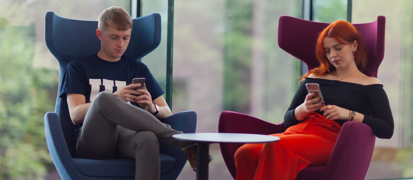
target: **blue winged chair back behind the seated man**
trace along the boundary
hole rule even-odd
[[[158,13],[134,18],[131,40],[124,55],[140,60],[152,52],[161,42],[161,16]],[[67,64],[77,58],[99,52],[100,40],[96,36],[97,21],[63,18],[55,12],[46,12],[45,40],[49,51],[59,61],[60,80]],[[57,97],[55,112],[59,115],[66,144],[72,157],[76,157],[74,130],[66,99]]]

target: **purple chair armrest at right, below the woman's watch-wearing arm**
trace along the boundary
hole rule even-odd
[[[363,180],[375,144],[371,128],[361,122],[345,122],[320,180]]]

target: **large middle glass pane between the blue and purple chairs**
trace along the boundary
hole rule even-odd
[[[302,0],[175,0],[173,113],[197,112],[197,132],[218,132],[222,111],[282,122],[299,61],[278,47],[278,17]],[[212,144],[210,179],[232,179]],[[180,180],[195,179],[189,164]]]

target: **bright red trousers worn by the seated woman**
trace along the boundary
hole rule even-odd
[[[317,113],[289,127],[275,143],[251,143],[235,152],[237,180],[295,180],[309,165],[325,165],[341,125]]]

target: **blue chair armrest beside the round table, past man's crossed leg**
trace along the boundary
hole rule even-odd
[[[182,131],[183,133],[195,133],[197,127],[197,113],[195,113],[195,111],[184,111],[173,114],[161,121],[165,124],[171,125],[171,128],[177,131]],[[185,154],[182,150],[174,148],[166,143],[159,142],[159,144],[159,151],[161,154],[169,155],[175,159],[175,165],[171,168],[171,170],[169,170],[169,174],[176,175],[176,177],[169,178],[178,178],[180,171],[182,171],[187,161]],[[175,171],[176,173],[171,173],[172,171]]]

